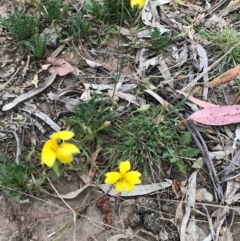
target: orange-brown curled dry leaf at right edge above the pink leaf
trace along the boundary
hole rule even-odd
[[[224,84],[232,79],[235,79],[240,75],[240,65],[237,65],[233,69],[226,71],[225,73],[219,75],[217,78],[213,79],[209,83],[205,83],[204,85],[209,88],[218,87],[221,84]]]

